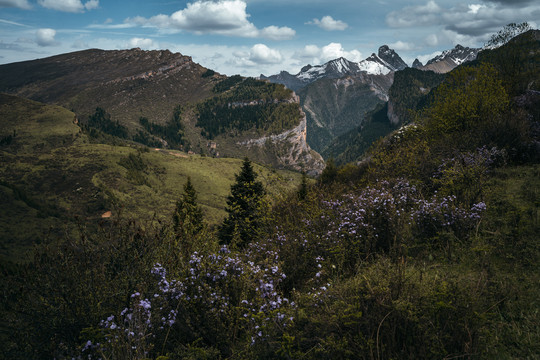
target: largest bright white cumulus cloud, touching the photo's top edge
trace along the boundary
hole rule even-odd
[[[150,18],[137,16],[126,19],[144,27],[156,27],[162,31],[191,31],[197,34],[220,34],[240,37],[266,37],[272,40],[292,38],[296,32],[289,27],[268,26],[257,29],[248,18],[244,0],[198,0],[188,3],[185,9],[172,15],[159,14]]]

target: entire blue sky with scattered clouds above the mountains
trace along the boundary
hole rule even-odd
[[[406,63],[481,47],[537,0],[0,0],[0,64],[89,48],[168,49],[222,74],[296,74],[381,45]]]

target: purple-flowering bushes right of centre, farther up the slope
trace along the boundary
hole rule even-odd
[[[495,150],[480,152],[482,156]],[[460,235],[470,230],[486,209],[483,202],[465,208],[455,196],[423,199],[414,185],[406,180],[395,183],[380,182],[356,194],[324,201],[328,210],[319,221],[326,224],[325,240],[336,245],[347,242],[357,244],[355,251],[389,250],[396,234],[403,234],[404,227],[415,235],[431,230],[452,230]],[[403,240],[403,239],[402,239]]]

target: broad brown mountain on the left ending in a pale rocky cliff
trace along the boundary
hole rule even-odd
[[[92,49],[2,65],[0,79],[0,91],[72,109],[82,123],[96,115],[94,123],[107,125],[101,130],[120,130],[112,133],[152,147],[174,146],[214,156],[255,156],[255,161],[295,170],[300,170],[301,162],[314,175],[324,167],[320,155],[307,144],[296,143],[303,141],[301,136],[295,143],[281,139],[269,148],[262,146],[261,151],[242,146],[252,138],[286,133],[302,123],[298,100],[290,90],[240,76],[222,76],[179,53]],[[278,95],[271,98],[273,94]],[[201,104],[209,102],[214,105],[206,109],[219,110],[222,115],[212,123],[221,129],[218,137],[208,136],[207,123],[201,120]],[[247,116],[245,121],[219,123],[238,113]],[[165,133],[175,137],[174,141]],[[297,146],[306,151],[294,152],[287,159],[277,153]]]

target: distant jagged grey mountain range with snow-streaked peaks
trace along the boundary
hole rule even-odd
[[[416,59],[412,67],[446,73],[474,60],[479,50],[457,45],[429,60],[426,65]],[[393,49],[383,45],[377,54],[373,53],[360,62],[341,57],[323,65],[306,65],[296,75],[282,71],[272,76],[261,74],[260,79],[283,84],[298,93],[307,116],[308,144],[328,155],[332,149],[326,148],[334,139],[362,126],[375,106],[389,100],[394,74],[407,68],[409,66]],[[388,110],[392,126],[396,126],[399,118],[394,107],[390,106]]]

